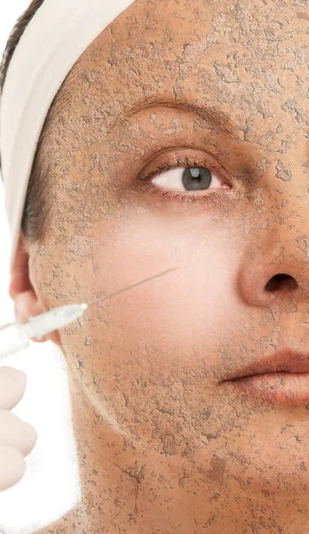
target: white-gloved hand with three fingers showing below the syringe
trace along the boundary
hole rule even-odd
[[[26,473],[24,460],[35,447],[35,429],[11,413],[23,397],[27,376],[11,367],[0,367],[0,491],[11,488]]]

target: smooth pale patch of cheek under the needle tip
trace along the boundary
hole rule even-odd
[[[118,226],[96,256],[93,295],[107,295],[162,271],[178,268],[99,304],[111,328],[130,343],[145,340],[181,348],[217,339],[231,315],[237,239],[205,223],[151,216]],[[231,254],[231,250],[234,251]],[[129,338],[126,338],[129,342]]]

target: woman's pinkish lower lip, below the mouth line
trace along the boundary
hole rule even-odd
[[[229,381],[234,388],[270,404],[308,404],[309,373],[266,373]]]

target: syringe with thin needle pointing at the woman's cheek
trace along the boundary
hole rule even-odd
[[[24,349],[27,349],[30,339],[36,338],[37,340],[40,340],[46,334],[49,334],[55,330],[59,330],[59,328],[66,327],[69,323],[81,317],[83,312],[88,308],[88,306],[91,306],[91,304],[107,300],[112,296],[123,293],[123,291],[128,291],[132,287],[145,284],[145,282],[158,278],[159,276],[167,274],[170,271],[175,271],[175,269],[176,268],[173,268],[169,269],[168,271],[155,274],[155,276],[152,276],[148,279],[143,279],[136,284],[132,284],[131,286],[124,287],[119,291],[115,291],[115,293],[110,293],[109,295],[103,296],[102,298],[99,298],[91,303],[68,304],[66,306],[60,306],[59,308],[55,308],[50,312],[42,313],[36,317],[30,317],[28,323],[11,323],[0,328],[0,360],[3,360],[15,352],[20,352]]]

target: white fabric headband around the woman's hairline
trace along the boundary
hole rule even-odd
[[[12,55],[0,102],[11,271],[36,146],[60,85],[82,53],[134,0],[44,0]]]

